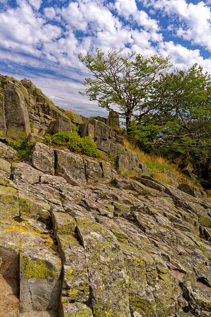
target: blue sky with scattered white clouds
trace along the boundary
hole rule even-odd
[[[113,46],[211,74],[211,0],[0,0],[0,74],[31,79],[63,109],[107,115],[78,94],[90,76],[78,54]]]

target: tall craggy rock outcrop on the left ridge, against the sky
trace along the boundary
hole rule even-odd
[[[30,80],[0,75],[0,139],[20,141],[30,132],[42,136],[55,122],[57,132],[72,131],[69,118]]]

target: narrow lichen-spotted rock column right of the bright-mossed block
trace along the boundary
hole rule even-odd
[[[52,222],[63,263],[59,317],[76,312],[86,312],[86,316],[89,316],[89,312],[92,314],[91,310],[82,304],[89,296],[86,256],[77,240],[75,219],[69,214],[53,212]],[[72,302],[74,304],[71,304]]]

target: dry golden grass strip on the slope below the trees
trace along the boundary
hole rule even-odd
[[[146,154],[143,151],[141,151],[137,146],[132,144],[131,141],[128,139],[125,139],[125,147],[131,151],[134,151],[137,153],[137,155],[140,156],[140,158],[146,163],[147,167],[152,170],[151,175],[166,184],[174,186],[174,181],[169,178],[168,176],[164,175],[161,173],[163,169],[167,169],[175,173],[181,181],[181,178],[186,179],[189,181],[189,184],[195,187],[200,188],[201,190],[204,191],[204,188],[201,186],[201,184],[196,183],[194,180],[190,179],[188,176],[184,175],[181,171],[178,171],[175,167],[174,164],[169,165],[167,159],[163,158],[160,155],[155,155],[155,154]]]

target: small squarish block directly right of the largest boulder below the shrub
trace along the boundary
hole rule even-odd
[[[102,181],[103,171],[100,167],[99,162],[93,159],[84,159],[84,169],[86,179],[88,181]]]

